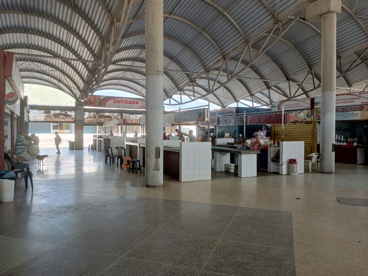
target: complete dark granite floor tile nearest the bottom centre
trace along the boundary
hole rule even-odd
[[[201,269],[218,240],[157,231],[126,257]]]

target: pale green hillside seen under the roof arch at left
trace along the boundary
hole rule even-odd
[[[75,105],[75,99],[67,93],[44,85],[25,84],[24,96],[34,105]]]

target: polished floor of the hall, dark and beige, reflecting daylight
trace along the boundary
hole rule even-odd
[[[368,166],[146,188],[100,152],[54,150],[0,203],[0,275],[368,275]],[[307,171],[307,170],[306,170]]]

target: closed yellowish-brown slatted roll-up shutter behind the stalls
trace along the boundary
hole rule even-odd
[[[273,139],[282,140],[282,125],[275,125]],[[313,124],[284,125],[284,141],[304,141],[304,155],[312,153]]]

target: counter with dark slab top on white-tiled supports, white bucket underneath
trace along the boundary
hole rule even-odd
[[[257,154],[259,151],[212,147],[213,171],[225,171],[225,164],[230,163],[230,153],[238,155],[238,177],[257,176]]]

